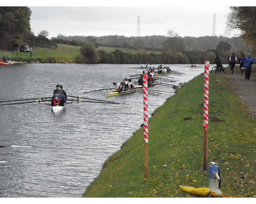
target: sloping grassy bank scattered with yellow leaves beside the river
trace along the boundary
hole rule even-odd
[[[209,162],[221,169],[221,192],[255,197],[255,120],[228,83],[211,75],[209,92]],[[203,169],[203,91],[200,75],[149,120],[149,178],[144,175],[143,129],[109,157],[84,197],[194,197],[179,186],[208,187]],[[149,107],[150,108],[150,107]],[[141,121],[142,122],[142,121]]]

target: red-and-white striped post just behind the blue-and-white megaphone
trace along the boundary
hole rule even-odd
[[[208,165],[208,128],[209,128],[209,67],[210,62],[204,63],[204,164],[203,169],[207,171]]]

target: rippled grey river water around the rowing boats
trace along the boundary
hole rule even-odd
[[[54,117],[51,106],[27,103],[0,106],[0,197],[81,197],[102,164],[143,123],[143,94],[106,98],[113,82],[141,74],[138,64],[22,64],[0,67],[0,101],[51,97],[56,84],[70,96],[102,99],[122,105],[70,104]],[[164,84],[188,82],[202,68],[182,68],[161,78]],[[174,94],[170,86],[148,90],[149,114]],[[1,104],[1,103],[0,103]],[[143,141],[141,141],[143,142]],[[15,147],[16,145],[18,147]]]

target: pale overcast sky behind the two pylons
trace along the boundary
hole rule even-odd
[[[173,0],[172,0],[173,1]],[[56,3],[57,2],[57,3]],[[61,3],[58,3],[61,2]],[[108,0],[93,3],[76,1],[44,1],[31,3],[31,31],[37,36],[48,31],[49,38],[64,36],[151,36],[164,35],[172,30],[179,36],[236,36],[238,31],[227,30],[228,6],[225,1],[120,1]],[[169,2],[169,3],[166,3]],[[157,6],[156,6],[157,3]],[[160,6],[162,5],[162,6]],[[234,4],[233,4],[234,5]],[[17,3],[20,6],[20,2]],[[214,26],[215,13],[215,26]],[[140,16],[140,27],[138,26]],[[139,29],[140,28],[140,29]],[[214,30],[213,30],[214,29]],[[140,31],[140,32],[138,32]]]

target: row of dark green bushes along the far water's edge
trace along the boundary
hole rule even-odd
[[[221,47],[220,47],[221,48]],[[237,51],[237,56],[243,51]],[[121,50],[112,51],[101,50],[92,42],[86,43],[81,47],[81,54],[77,55],[77,63],[106,63],[106,64],[204,64],[204,61],[214,63],[216,54],[220,55],[223,63],[228,63],[229,50],[204,51],[180,51],[165,50],[163,52],[154,52],[148,50]],[[237,57],[238,59],[238,57]]]

